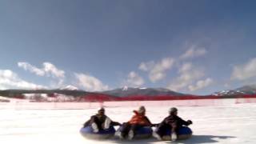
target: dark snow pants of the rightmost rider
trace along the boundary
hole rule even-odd
[[[156,133],[160,135],[160,137],[166,135],[166,131],[170,130],[171,133],[177,133],[177,125],[176,122],[172,122],[170,124],[160,124],[156,130]]]

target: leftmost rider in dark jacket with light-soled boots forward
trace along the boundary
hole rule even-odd
[[[109,129],[110,126],[121,126],[119,122],[111,121],[105,114],[105,109],[103,107],[98,109],[98,114],[95,114],[86,121],[83,127],[91,126],[94,133],[98,133],[99,130]]]

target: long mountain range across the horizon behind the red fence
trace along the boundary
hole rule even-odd
[[[30,99],[42,102],[72,101],[133,101],[133,100],[170,100],[170,99],[194,99],[194,98],[237,98],[248,95],[256,95],[256,85],[242,86],[234,90],[222,90],[205,96],[182,94],[165,88],[136,88],[127,87],[87,92],[78,90],[75,86],[65,86],[55,90],[0,90],[0,96],[8,98]],[[1,101],[0,101],[1,102]]]

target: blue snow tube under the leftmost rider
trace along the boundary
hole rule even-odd
[[[98,133],[94,133],[94,130],[91,126],[83,127],[80,130],[80,134],[84,138],[91,138],[91,139],[106,139],[114,136],[115,130],[114,126],[110,126],[109,129],[106,130],[99,130]]]

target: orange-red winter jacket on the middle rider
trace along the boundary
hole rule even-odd
[[[134,114],[135,115],[130,119],[128,123],[131,125],[138,124],[142,126],[152,126],[149,118],[147,118],[145,115],[139,114],[137,110],[134,110]]]

